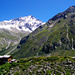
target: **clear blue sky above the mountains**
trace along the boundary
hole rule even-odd
[[[75,5],[75,0],[0,0],[0,21],[33,15],[47,22]]]

